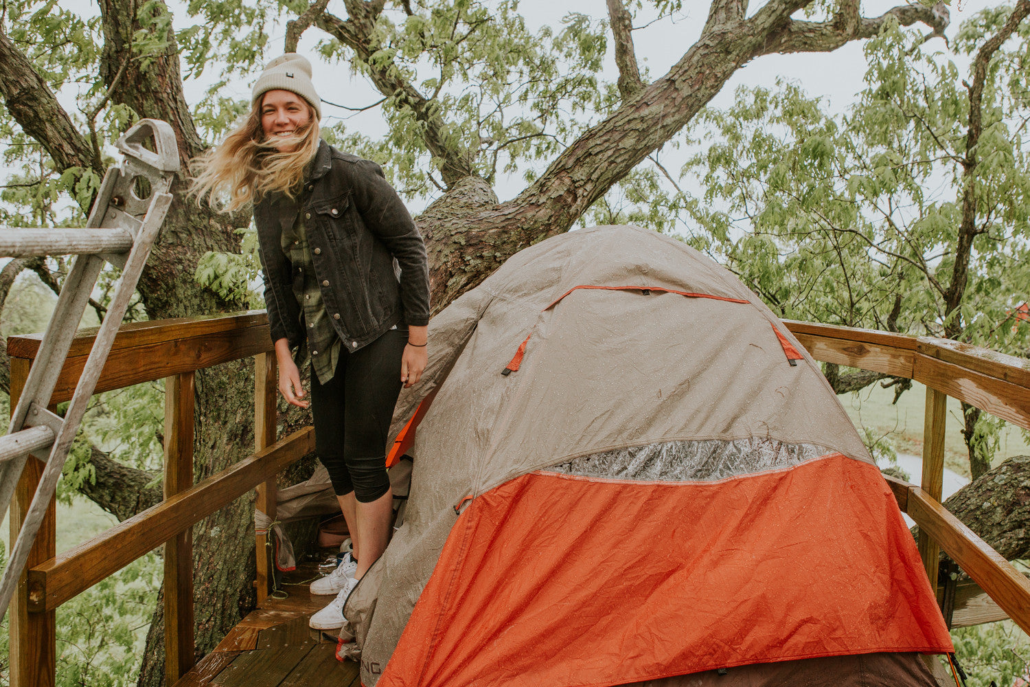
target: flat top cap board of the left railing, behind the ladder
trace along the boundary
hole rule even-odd
[[[111,350],[168,343],[179,339],[193,339],[211,334],[267,325],[268,316],[264,310],[131,322],[118,328],[118,335],[114,338]],[[97,337],[98,330],[99,328],[96,327],[80,330],[72,340],[68,355],[72,357],[89,355],[93,349],[93,342]],[[7,339],[7,354],[11,357],[35,359],[42,338],[42,334],[9,337]],[[270,339],[269,346],[271,347],[271,345]]]

